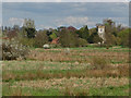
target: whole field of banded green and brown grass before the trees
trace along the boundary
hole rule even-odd
[[[2,62],[3,96],[128,96],[129,49],[32,49]]]

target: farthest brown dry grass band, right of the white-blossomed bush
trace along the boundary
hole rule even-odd
[[[118,50],[119,51],[119,50]],[[118,52],[118,51],[98,51],[98,50],[70,50],[69,54],[66,54],[64,50],[43,50],[43,51],[32,51],[31,56],[28,56],[28,59],[32,60],[40,60],[40,61],[79,61],[82,62],[88,62],[91,61],[91,57],[98,57],[98,58],[106,58],[108,60],[114,61],[122,61],[123,63],[127,63],[129,61],[129,52]]]

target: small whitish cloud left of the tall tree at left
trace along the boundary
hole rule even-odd
[[[17,17],[10,17],[9,19],[9,24],[10,25],[19,25],[19,26],[22,26],[24,24],[24,19],[17,19]]]

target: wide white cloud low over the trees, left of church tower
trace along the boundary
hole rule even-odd
[[[58,24],[58,26],[61,25],[82,26],[82,25],[95,25],[95,22],[91,22],[87,16],[84,17],[68,16],[66,19],[56,20],[56,24]]]

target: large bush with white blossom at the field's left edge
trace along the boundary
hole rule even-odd
[[[2,47],[2,60],[26,59],[29,52],[26,47],[15,40],[4,40],[0,47]]]

